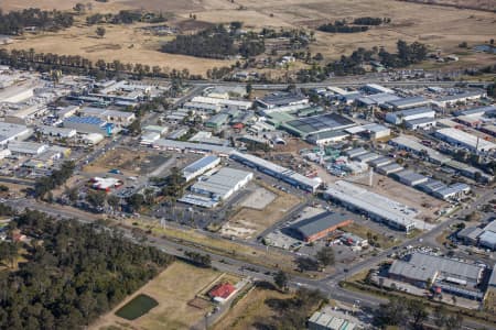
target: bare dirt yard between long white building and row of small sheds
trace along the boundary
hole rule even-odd
[[[374,174],[373,187],[368,187],[368,176],[349,177],[347,180],[359,184],[359,186],[365,189],[384,195],[392,200],[414,208],[419,212],[418,219],[436,219],[438,216],[435,216],[435,211],[449,206],[445,201],[433,198],[422,191],[379,174]]]

